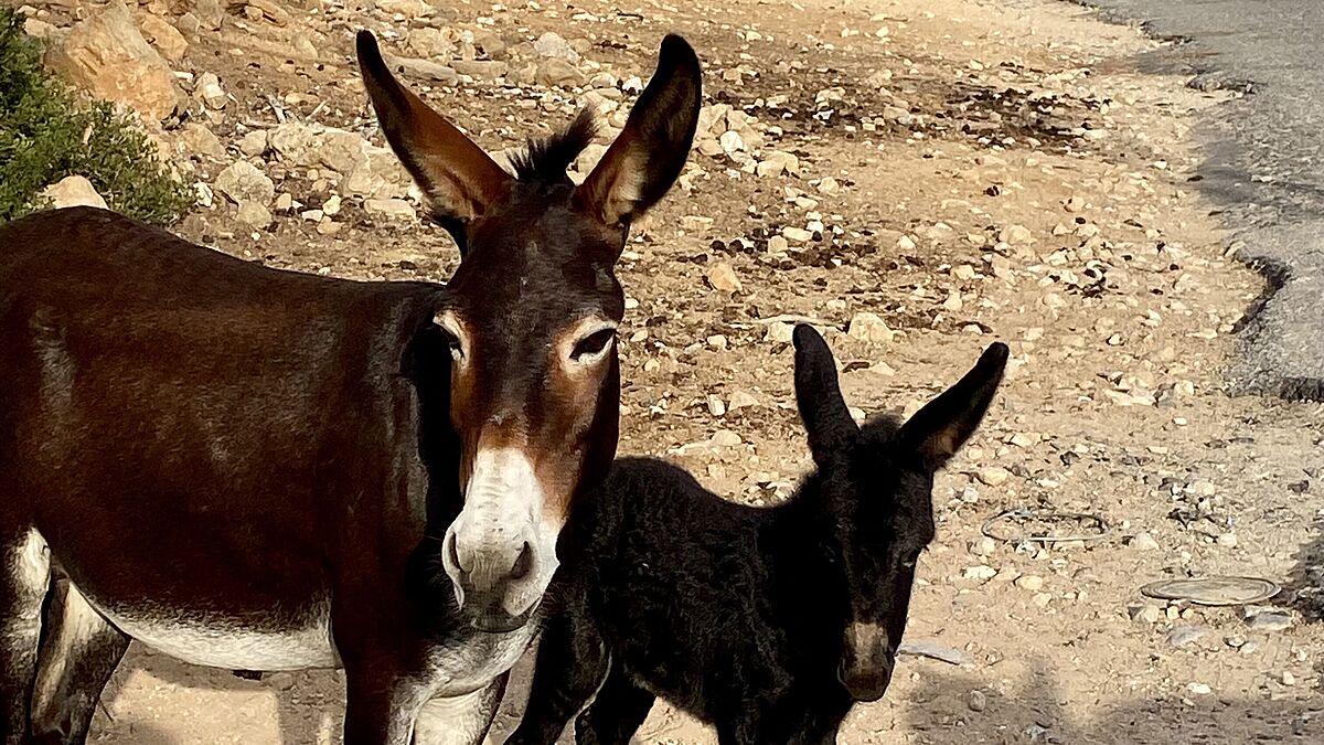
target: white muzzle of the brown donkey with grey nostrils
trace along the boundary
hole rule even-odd
[[[543,598],[561,528],[548,517],[547,500],[524,452],[475,453],[465,506],[446,530],[442,553],[455,599],[471,618],[527,618]]]

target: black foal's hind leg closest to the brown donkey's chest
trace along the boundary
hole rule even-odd
[[[552,745],[606,677],[609,658],[585,623],[553,615],[538,643],[528,707],[506,745]]]

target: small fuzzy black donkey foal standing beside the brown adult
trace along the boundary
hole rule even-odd
[[[575,558],[507,745],[552,744],[576,715],[579,745],[624,744],[655,696],[723,745],[833,742],[855,701],[882,697],[933,538],[933,473],[982,419],[1008,347],[904,424],[861,428],[828,343],[798,326],[794,345],[817,468],[788,502],[751,508],[674,465],[616,461],[563,533]]]

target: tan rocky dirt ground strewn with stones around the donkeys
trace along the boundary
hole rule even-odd
[[[377,32],[402,77],[493,151],[597,106],[609,126],[580,171],[663,33],[686,34],[707,107],[679,188],[621,262],[622,452],[673,457],[741,501],[788,493],[809,464],[796,319],[828,334],[862,414],[914,411],[993,339],[1014,355],[937,483],[919,569],[908,639],[959,664],[903,658],[841,741],[1324,740],[1324,410],[1225,390],[1263,284],[1188,184],[1188,130],[1233,94],[1139,73],[1156,42],[1136,29],[1049,0],[24,12],[53,66],[136,105],[196,182],[177,232],[360,278],[440,280],[457,256],[375,130],[355,29]],[[1111,532],[982,537],[1017,508],[1096,514]],[[1139,593],[1209,574],[1286,590],[1249,608]],[[93,740],[334,742],[342,700],[331,672],[257,683],[135,648]],[[712,741],[665,707],[639,738]]]

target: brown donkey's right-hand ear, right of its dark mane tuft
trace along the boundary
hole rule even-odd
[[[683,38],[662,40],[658,69],[625,129],[576,190],[577,203],[610,227],[629,227],[671,188],[694,143],[703,106],[699,57]]]

